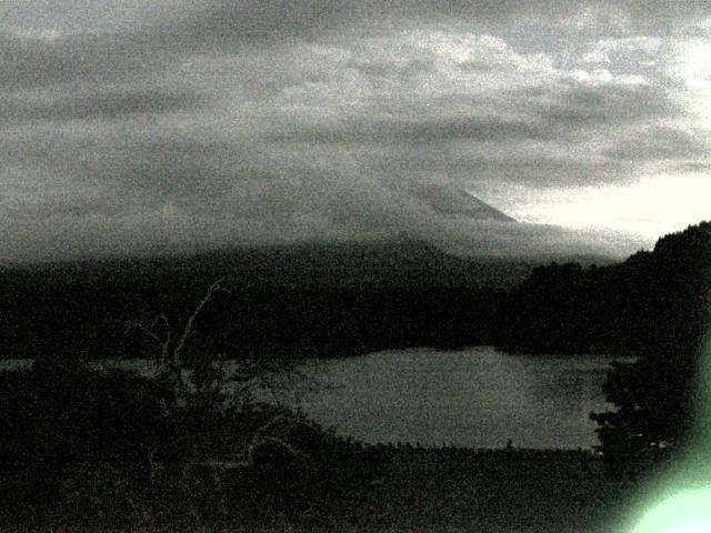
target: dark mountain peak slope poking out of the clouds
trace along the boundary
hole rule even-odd
[[[434,212],[447,217],[515,222],[511,217],[457,187],[439,183],[422,184],[415,188],[414,195],[424,201]]]

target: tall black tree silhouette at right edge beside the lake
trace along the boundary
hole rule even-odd
[[[634,299],[615,325],[622,329],[621,345],[639,359],[613,365],[604,392],[617,410],[591,418],[611,470],[637,476],[678,456],[698,432],[703,339],[711,319],[711,223],[667,235],[620,271],[618,286],[624,283]]]

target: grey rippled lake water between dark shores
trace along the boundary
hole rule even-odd
[[[316,360],[304,373],[323,386],[279,400],[359,441],[422,445],[590,447],[591,411],[604,401],[604,355],[512,355],[489,346],[391,350]],[[28,364],[3,361],[0,368]],[[146,361],[119,363],[143,373]]]

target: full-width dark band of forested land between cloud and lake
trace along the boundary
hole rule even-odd
[[[703,323],[704,235],[702,224],[620,264],[532,272],[417,241],[6,268],[0,358],[147,356],[154,346],[130,323],[160,313],[180,323],[218,279],[231,291],[203,310],[192,349],[227,358],[490,343],[525,353],[689,350]]]

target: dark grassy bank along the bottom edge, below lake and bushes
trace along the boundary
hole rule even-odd
[[[62,505],[12,522],[17,531],[610,532],[634,489],[588,452],[352,446],[350,465],[320,474],[173,464],[148,492],[94,465]]]

